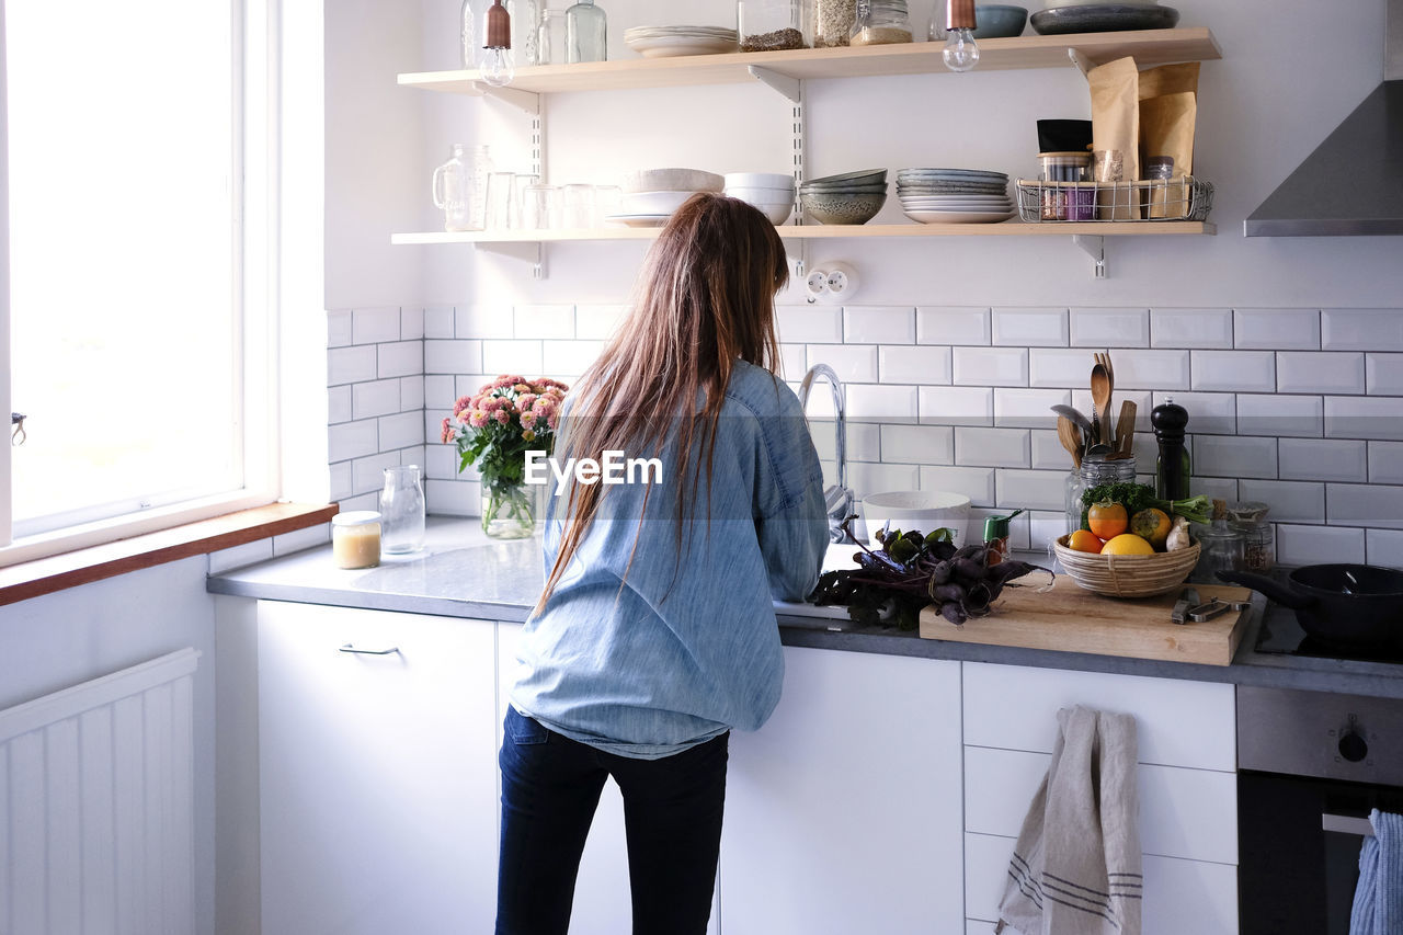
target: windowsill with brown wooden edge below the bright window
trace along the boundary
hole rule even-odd
[[[274,503],[0,569],[0,605],[330,522],[337,504]]]

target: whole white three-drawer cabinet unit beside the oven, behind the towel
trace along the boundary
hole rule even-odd
[[[1237,931],[1236,710],[1232,685],[964,664],[965,914],[988,931],[1028,804],[1051,762],[1056,712],[1134,715],[1145,935]]]

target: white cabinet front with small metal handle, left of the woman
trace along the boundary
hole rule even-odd
[[[491,622],[260,602],[262,935],[492,931],[495,663]]]

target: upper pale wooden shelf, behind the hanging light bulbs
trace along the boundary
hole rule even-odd
[[[554,91],[603,91],[694,84],[739,84],[756,80],[752,67],[787,79],[871,77],[882,74],[946,73],[940,42],[905,42],[838,49],[786,49],[732,52],[668,59],[630,58],[622,62],[542,65],[516,69],[509,90],[547,94]],[[1075,51],[1085,65],[1104,65],[1127,55],[1143,69],[1173,62],[1221,59],[1222,49],[1207,27],[1083,32],[1078,35],[1027,35],[1014,39],[981,39],[978,72],[1049,69],[1073,65]],[[481,73],[415,72],[400,74],[405,87],[455,94],[484,94]]]

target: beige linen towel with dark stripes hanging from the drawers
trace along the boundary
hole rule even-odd
[[[1135,719],[1080,705],[1056,719],[1052,762],[1013,847],[995,932],[1139,935]]]

